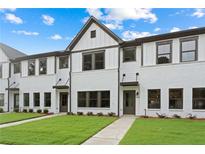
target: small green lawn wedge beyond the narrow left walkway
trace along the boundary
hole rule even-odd
[[[0,114],[0,124],[43,116],[39,113],[6,113]]]

